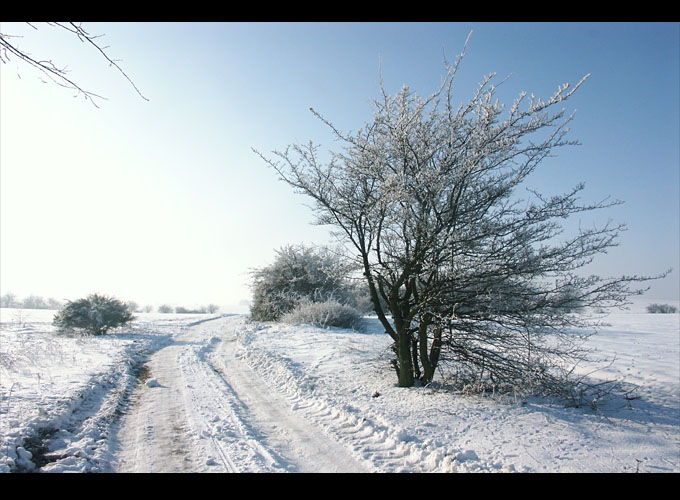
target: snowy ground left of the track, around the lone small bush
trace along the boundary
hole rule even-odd
[[[55,332],[55,311],[0,309],[0,472],[110,471],[111,428],[146,356],[190,315],[139,314],[105,336]],[[43,442],[50,438],[51,449]],[[60,460],[59,457],[68,457]]]

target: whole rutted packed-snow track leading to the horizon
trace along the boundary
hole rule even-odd
[[[237,318],[154,353],[118,433],[119,472],[369,472],[239,359]]]

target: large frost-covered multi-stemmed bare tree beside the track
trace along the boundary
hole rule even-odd
[[[648,279],[584,273],[622,225],[559,238],[561,221],[619,202],[582,204],[582,184],[556,196],[518,189],[557,148],[577,144],[565,137],[573,116],[558,108],[587,77],[547,100],[523,92],[506,108],[490,75],[456,106],[464,52],[425,99],[408,87],[388,95],[381,83],[373,121],[353,135],[311,110],[344,145],[327,161],[311,142],[255,151],[354,251],[405,387],[431,382],[443,362],[494,384],[548,378],[581,355],[566,333],[584,326],[574,311],[622,305]]]

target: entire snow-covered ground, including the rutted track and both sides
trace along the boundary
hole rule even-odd
[[[592,376],[637,399],[580,408],[396,387],[372,319],[138,314],[66,337],[54,311],[0,309],[0,471],[680,472],[680,315],[644,306],[590,340],[614,359]]]

